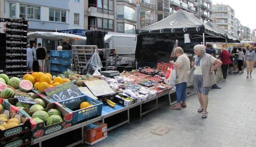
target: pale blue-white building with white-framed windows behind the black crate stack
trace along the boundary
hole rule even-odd
[[[83,0],[5,0],[5,18],[25,18],[30,31],[83,29]]]

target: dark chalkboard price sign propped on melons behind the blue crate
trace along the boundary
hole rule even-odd
[[[72,81],[47,88],[45,89],[45,93],[56,102],[82,95]]]

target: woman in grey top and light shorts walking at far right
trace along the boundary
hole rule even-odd
[[[247,69],[246,78],[249,78],[249,73],[250,73],[250,78],[251,78],[252,77],[252,69],[253,69],[254,63],[256,62],[256,54],[254,51],[252,51],[252,46],[250,46],[249,50],[246,51],[244,61],[246,62],[246,69]]]

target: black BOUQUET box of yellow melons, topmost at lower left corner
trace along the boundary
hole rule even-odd
[[[10,111],[7,111],[7,110],[5,110],[3,113],[6,114],[9,118],[17,118],[20,122],[20,125],[6,129],[4,131],[0,130],[0,140],[13,138],[14,136],[24,134],[26,132],[31,134],[31,125],[30,125],[30,120],[28,118],[24,118],[19,114],[11,113]],[[8,121],[9,120],[6,120],[4,122],[7,123]]]

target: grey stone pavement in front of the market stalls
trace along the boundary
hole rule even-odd
[[[229,75],[218,82],[221,89],[208,95],[206,119],[197,113],[196,94],[180,111],[172,110],[163,98],[158,110],[109,131],[108,138],[92,147],[256,147],[256,71],[252,78],[245,76]],[[150,133],[158,126],[171,131],[164,136]]]

